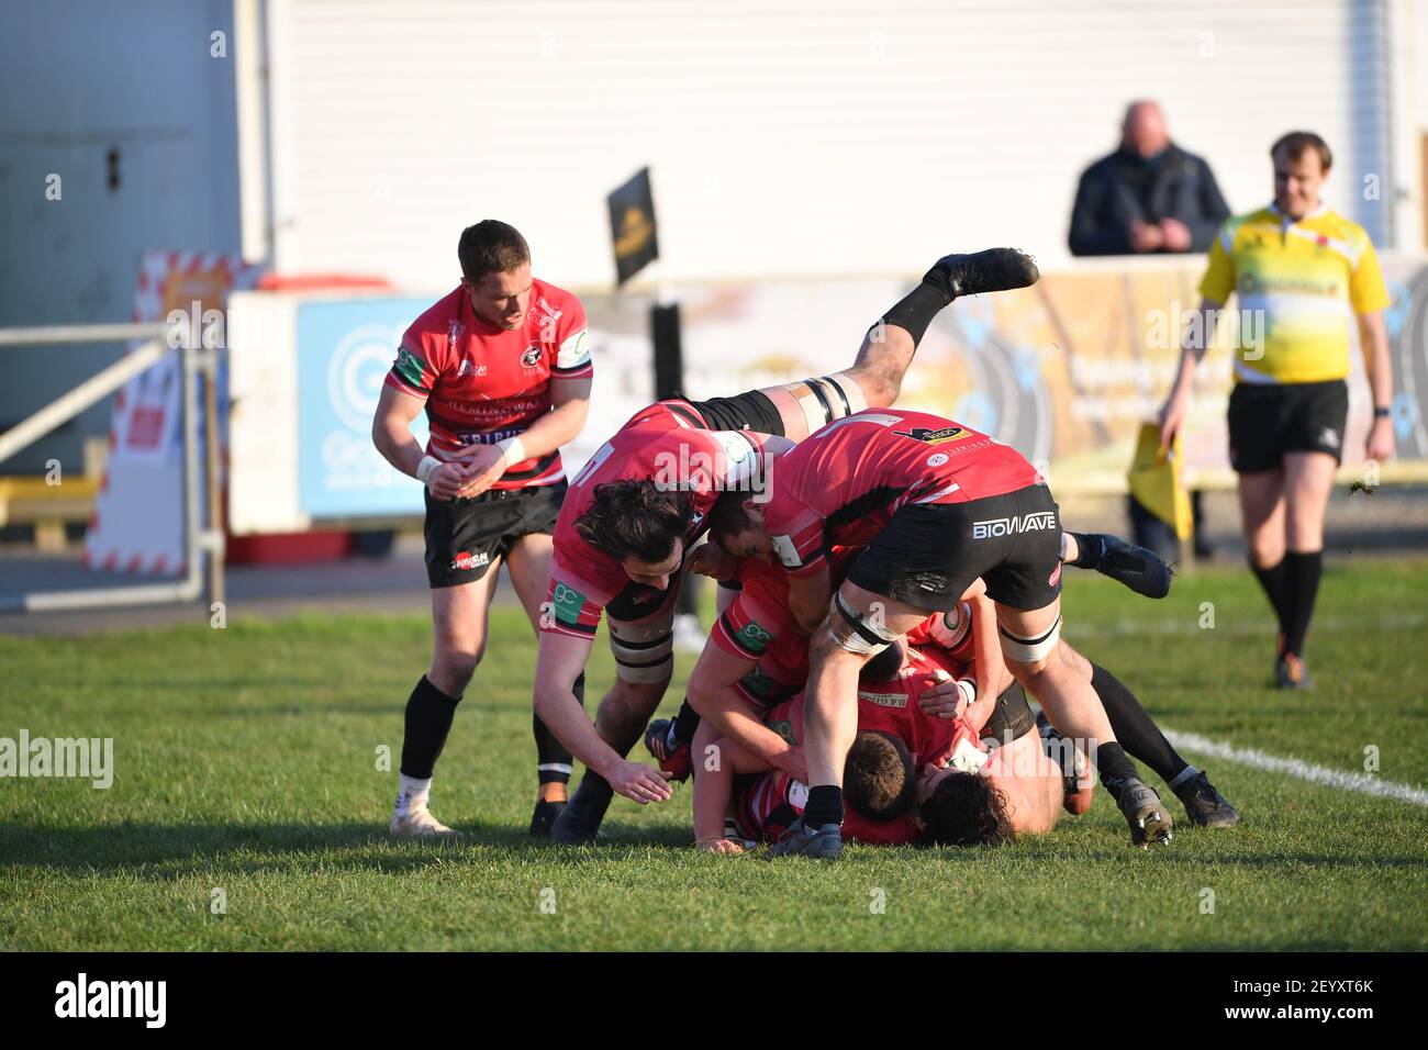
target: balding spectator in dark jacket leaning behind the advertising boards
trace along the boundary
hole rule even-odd
[[[1154,101],[1132,103],[1121,131],[1121,149],[1081,176],[1071,254],[1207,251],[1230,217],[1210,164],[1170,140]]]

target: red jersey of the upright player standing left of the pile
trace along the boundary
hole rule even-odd
[[[551,384],[590,379],[585,310],[571,293],[531,281],[520,327],[487,324],[466,289],[438,300],[401,337],[387,383],[427,403],[427,454],[460,460],[468,446],[516,437],[551,409]],[[555,484],[560,451],[513,463],[493,489]]]

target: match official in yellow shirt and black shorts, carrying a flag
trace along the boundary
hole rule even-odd
[[[1211,246],[1200,283],[1201,336],[1184,343],[1160,424],[1168,447],[1214,331],[1211,311],[1238,293],[1230,464],[1240,476],[1250,566],[1279,619],[1275,681],[1307,689],[1304,640],[1324,564],[1324,511],[1344,454],[1351,314],[1374,397],[1365,454],[1381,461],[1394,453],[1389,299],[1368,234],[1319,200],[1328,144],[1312,131],[1291,131],[1269,157],[1274,203],[1230,219]]]

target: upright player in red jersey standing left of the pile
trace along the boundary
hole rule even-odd
[[[560,446],[585,424],[585,311],[531,276],[530,247],[487,219],[461,231],[461,284],[401,337],[373,420],[373,443],[426,486],[431,666],[407,700],[391,830],[448,836],[428,809],[431,773],[457,703],[486,649],[487,610],[504,561],[533,626],[550,580],[551,533],[565,494]],[[426,410],[423,449],[410,424]],[[571,683],[578,703],[583,683]],[[536,719],[538,794],[531,834],[564,806],[571,757]]]

